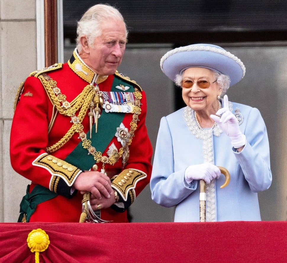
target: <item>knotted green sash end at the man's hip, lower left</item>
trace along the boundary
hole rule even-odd
[[[22,222],[24,214],[26,214],[26,222],[29,222],[30,217],[35,212],[38,204],[48,201],[56,196],[56,193],[51,192],[48,188],[41,185],[36,185],[32,192],[29,194],[28,185],[26,195],[23,196],[23,199],[20,203],[20,216],[18,222]]]

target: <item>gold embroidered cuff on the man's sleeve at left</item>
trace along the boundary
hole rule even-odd
[[[46,168],[53,176],[60,176],[63,178],[68,186],[71,186],[75,176],[80,172],[77,167],[58,159],[49,154],[43,154],[33,162],[33,165]],[[57,189],[59,180],[52,179],[51,190]],[[54,191],[55,192],[55,191]]]

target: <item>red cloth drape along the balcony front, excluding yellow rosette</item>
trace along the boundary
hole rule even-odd
[[[31,263],[27,246],[33,229],[43,229],[50,244],[40,262],[222,263],[287,260],[287,223],[2,223],[0,262]]]

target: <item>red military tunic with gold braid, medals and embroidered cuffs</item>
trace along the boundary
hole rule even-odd
[[[126,209],[149,183],[152,149],[145,126],[145,93],[117,72],[100,76],[104,105],[120,112],[101,109],[98,132],[93,125],[90,139],[88,112],[94,94],[89,84],[94,75],[74,52],[68,63],[30,74],[18,90],[10,139],[12,167],[32,181],[29,193],[41,185],[57,194],[38,202],[30,222],[78,222],[83,195],[73,192],[72,184],[84,170],[100,171],[103,162],[120,197],[101,210],[104,220],[127,222]],[[33,205],[26,200],[30,209]]]

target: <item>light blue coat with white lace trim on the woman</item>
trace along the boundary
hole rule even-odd
[[[225,181],[221,175],[208,189],[207,221],[261,220],[257,192],[268,189],[272,181],[266,126],[256,108],[229,103],[229,109],[233,113],[239,109],[243,117],[239,127],[247,143],[240,153],[218,126],[218,137],[211,129],[199,130],[189,107],[161,119],[151,195],[160,205],[176,206],[175,222],[199,221],[199,184],[197,180],[187,184],[184,172],[189,165],[204,162],[223,166],[230,172],[227,187],[220,189]],[[202,133],[209,135],[202,137]]]

